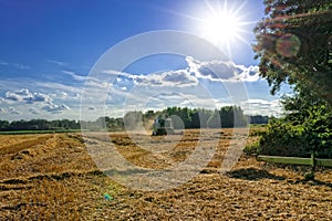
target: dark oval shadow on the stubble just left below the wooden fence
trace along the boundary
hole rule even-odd
[[[257,168],[243,168],[227,172],[231,178],[246,179],[246,180],[259,180],[259,179],[274,179],[284,180],[284,177],[271,175],[270,172]]]

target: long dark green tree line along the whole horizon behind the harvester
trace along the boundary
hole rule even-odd
[[[124,117],[98,117],[92,122],[80,122],[71,119],[31,119],[31,120],[0,120],[0,131],[12,130],[72,130],[87,128],[98,130],[135,129],[143,125],[149,127],[151,123],[158,116],[170,117],[175,128],[218,128],[241,127],[250,124],[268,124],[269,117],[262,115],[247,116],[241,107],[225,106],[219,109],[167,107],[164,110],[128,112]]]

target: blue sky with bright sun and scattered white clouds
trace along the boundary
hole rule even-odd
[[[262,17],[261,0],[0,0],[0,119],[175,105],[278,116],[289,88],[269,94],[251,49]]]

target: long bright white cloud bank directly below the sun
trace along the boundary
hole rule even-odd
[[[135,85],[156,87],[186,87],[199,84],[200,80],[211,82],[256,82],[259,77],[258,66],[237,65],[231,61],[198,61],[186,57],[188,67],[185,70],[167,71],[148,75],[136,75],[118,71],[104,71],[108,82],[118,90],[132,88]],[[98,83],[100,84],[100,83]]]

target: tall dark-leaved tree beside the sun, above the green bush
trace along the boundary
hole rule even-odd
[[[307,91],[331,105],[331,0],[264,0],[264,4],[253,50],[271,93],[282,83],[294,84],[295,91]]]

